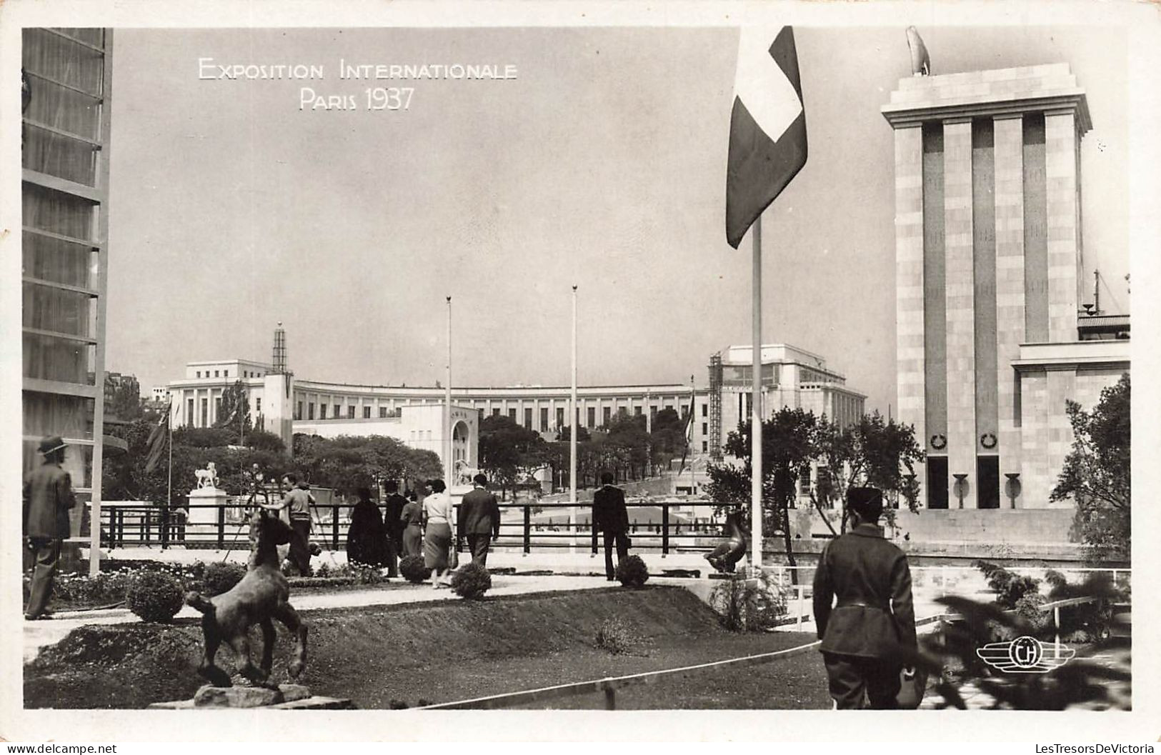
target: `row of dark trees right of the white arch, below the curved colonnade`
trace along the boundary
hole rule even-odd
[[[673,409],[663,409],[652,419],[651,432],[641,415],[618,414],[603,427],[577,433],[577,486],[597,484],[600,473],[618,480],[640,480],[668,468],[686,453],[686,420]],[[518,424],[511,417],[492,415],[479,423],[479,467],[506,492],[539,470],[551,473],[553,487],[569,484],[571,427],[562,427],[555,440]]]

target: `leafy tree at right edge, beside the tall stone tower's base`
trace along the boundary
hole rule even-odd
[[[1073,447],[1050,499],[1073,498],[1075,526],[1094,558],[1127,559],[1132,502],[1128,373],[1101,391],[1091,412],[1074,401],[1066,403],[1066,411]]]

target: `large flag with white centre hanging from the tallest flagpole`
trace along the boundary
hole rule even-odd
[[[773,38],[773,43],[771,43]],[[726,240],[734,249],[806,165],[806,110],[794,30],[743,28],[726,171]]]

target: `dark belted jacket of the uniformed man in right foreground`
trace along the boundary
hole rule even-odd
[[[911,570],[878,526],[860,524],[823,549],[814,618],[824,653],[893,659],[900,645],[915,647]]]

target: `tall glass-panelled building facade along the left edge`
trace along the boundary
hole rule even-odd
[[[81,499],[99,499],[104,448],[111,36],[23,33],[24,469],[39,463],[41,437],[64,437]]]

